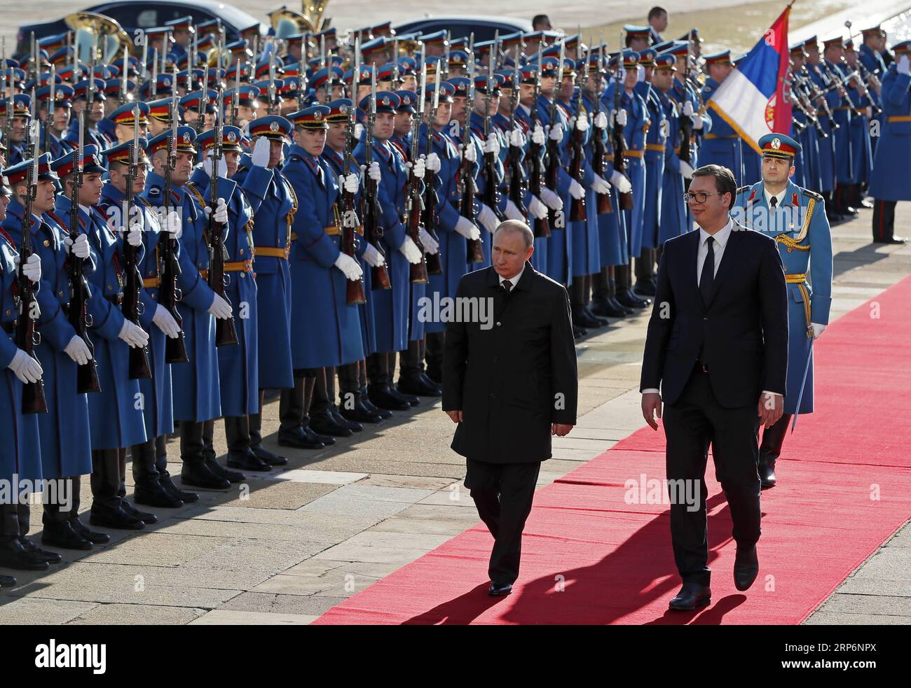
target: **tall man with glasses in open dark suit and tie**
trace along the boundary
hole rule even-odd
[[[731,508],[737,542],[734,583],[747,590],[759,572],[759,423],[781,418],[788,358],[784,268],[775,241],[735,223],[730,169],[693,173],[685,197],[698,231],[664,244],[655,306],[642,361],[642,415],[664,409],[669,492],[698,481],[699,510],[671,497],[670,537],[683,579],[671,609],[711,602],[705,465],[715,471]],[[660,393],[659,393],[660,386]],[[671,487],[674,488],[671,491]]]

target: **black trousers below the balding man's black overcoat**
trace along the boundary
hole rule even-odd
[[[471,491],[477,514],[494,536],[487,575],[498,583],[518,578],[522,531],[531,512],[541,464],[487,463],[467,460],[465,486]]]

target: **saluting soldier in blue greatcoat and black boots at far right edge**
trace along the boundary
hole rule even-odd
[[[911,41],[902,41],[893,50],[895,62],[883,76],[883,129],[870,175],[869,193],[875,199],[873,240],[878,244],[907,242],[895,236],[896,202],[911,200]]]

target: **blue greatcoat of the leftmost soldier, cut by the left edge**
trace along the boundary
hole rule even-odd
[[[10,203],[12,205],[12,202]],[[38,440],[38,414],[22,415],[22,382],[7,366],[18,348],[15,345],[13,322],[19,316],[19,306],[14,297],[17,270],[15,268],[18,243],[9,238],[10,228],[7,209],[4,231],[0,231],[0,480],[11,481],[16,475],[26,480],[41,479],[41,443]],[[20,230],[21,231],[21,230]],[[40,284],[36,285],[41,291]],[[40,307],[40,302],[39,302]]]

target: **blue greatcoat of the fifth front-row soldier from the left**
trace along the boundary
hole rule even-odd
[[[164,177],[148,173],[144,197],[152,206],[164,206],[164,187]],[[193,194],[182,187],[171,187],[169,207],[180,213],[182,221],[177,308],[189,358],[187,363],[171,364],[174,420],[202,422],[221,415],[215,318],[209,312],[215,294],[200,273],[209,268],[209,246],[204,235],[207,220]]]

